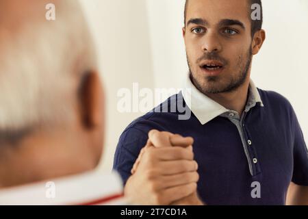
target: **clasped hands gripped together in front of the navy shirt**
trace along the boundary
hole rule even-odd
[[[152,130],[125,185],[125,196],[138,205],[201,205],[192,138]]]

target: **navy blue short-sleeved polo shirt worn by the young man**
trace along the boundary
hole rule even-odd
[[[157,129],[194,138],[198,194],[208,205],[284,205],[291,181],[308,186],[307,147],[287,99],[251,81],[238,115],[192,89],[190,98],[183,91],[170,96],[123,131],[114,170],[124,182],[149,131]]]

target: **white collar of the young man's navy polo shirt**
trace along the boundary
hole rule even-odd
[[[183,99],[188,105],[192,113],[198,118],[202,125],[205,125],[210,120],[220,116],[226,112],[230,112],[227,108],[223,107],[216,101],[213,101],[205,94],[201,93],[192,83],[190,77],[186,77],[183,89],[182,89]],[[246,104],[245,111],[248,112],[252,107],[257,103],[260,103],[261,107],[264,107],[264,104],[261,100],[261,96],[255,83],[250,81],[249,84],[249,96]]]

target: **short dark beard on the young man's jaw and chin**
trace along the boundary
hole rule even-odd
[[[240,86],[242,86],[243,83],[246,81],[246,79],[248,77],[248,70],[251,67],[252,57],[253,57],[253,52],[252,52],[252,49],[250,48],[249,51],[248,51],[247,57],[246,57],[247,62],[246,62],[244,69],[242,69],[242,71],[240,72],[239,76],[236,79],[233,79],[232,81],[230,81],[230,83],[227,86],[225,86],[224,88],[221,88],[221,89],[211,88],[211,89],[205,90],[205,88],[203,88],[201,83],[199,83],[198,80],[196,78],[194,78],[194,76],[192,75],[190,63],[188,62],[188,66],[189,66],[189,70],[190,70],[190,80],[192,81],[194,86],[198,90],[200,90],[203,94],[219,94],[219,93],[225,93],[225,92],[232,92],[232,91],[240,88]],[[207,77],[207,81],[209,81],[209,82],[211,82],[211,81],[215,82],[215,81],[218,81],[218,80],[219,80],[219,78],[215,77],[215,76]]]

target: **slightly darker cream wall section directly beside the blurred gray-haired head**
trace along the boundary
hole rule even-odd
[[[97,43],[99,70],[107,96],[107,124],[103,170],[111,170],[120,133],[142,113],[121,114],[117,110],[120,88],[153,88],[154,75],[149,25],[144,0],[82,0]]]

